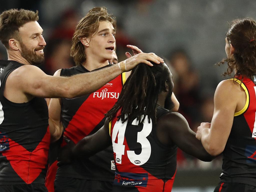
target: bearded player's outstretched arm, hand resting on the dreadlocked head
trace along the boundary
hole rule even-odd
[[[147,65],[153,66],[150,61],[158,64],[160,61],[163,62],[163,60],[152,54],[140,53],[126,59],[126,70],[130,71],[139,63],[146,63]],[[124,69],[124,61],[121,61],[120,65]],[[9,75],[6,84],[9,84],[8,87],[13,86],[13,90],[37,97],[74,98],[98,90],[119,74],[121,74],[119,66],[113,65],[102,70],[66,78],[49,76],[38,67],[24,65]]]

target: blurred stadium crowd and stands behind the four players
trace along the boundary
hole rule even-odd
[[[179,112],[196,131],[200,122],[210,122],[213,95],[224,78],[226,66],[215,66],[226,56],[225,34],[236,18],[256,18],[256,1],[249,0],[8,0],[0,11],[10,8],[39,10],[39,23],[47,42],[48,74],[74,65],[70,58],[74,28],[89,9],[105,6],[117,19],[116,45],[119,60],[125,59],[127,44],[165,58],[174,78]],[[7,54],[0,42],[0,59]],[[219,182],[221,156],[201,162],[178,151],[173,192],[210,192]]]

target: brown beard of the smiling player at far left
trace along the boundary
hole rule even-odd
[[[20,42],[20,46],[22,51],[20,52],[21,56],[24,57],[30,65],[40,65],[45,61],[44,54],[37,55],[35,51],[29,50],[23,42]],[[37,48],[36,50],[43,49],[44,46],[41,48]]]

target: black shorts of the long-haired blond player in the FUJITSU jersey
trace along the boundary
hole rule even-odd
[[[111,192],[113,182],[56,177],[55,192]]]

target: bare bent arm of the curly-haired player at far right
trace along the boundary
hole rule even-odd
[[[212,121],[201,123],[197,131],[197,138],[211,155],[219,155],[223,152],[232,128],[237,103],[245,94],[240,85],[231,80],[220,82],[216,88]]]

